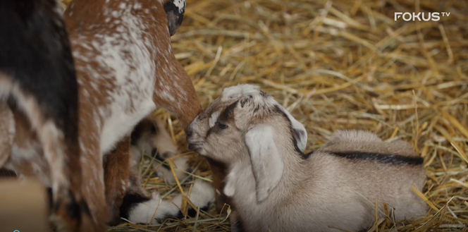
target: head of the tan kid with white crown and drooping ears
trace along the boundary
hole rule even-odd
[[[281,153],[302,153],[307,143],[304,126],[254,85],[224,89],[192,121],[186,134],[189,149],[199,154],[228,166],[239,162],[250,164],[258,202],[265,200],[281,181],[284,168]]]

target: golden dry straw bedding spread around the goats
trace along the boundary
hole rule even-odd
[[[438,22],[395,22],[398,12],[450,12]],[[426,15],[427,17],[427,15]],[[189,0],[173,51],[203,106],[238,83],[260,85],[304,123],[307,150],[335,130],[364,129],[409,141],[424,158],[430,211],[405,226],[381,217],[369,231],[468,231],[468,2],[411,0]],[[185,148],[178,121],[163,111],[196,178],[207,164]],[[149,176],[145,187],[179,191]],[[181,181],[183,187],[190,182]],[[157,226],[113,231],[229,231],[214,210]]]

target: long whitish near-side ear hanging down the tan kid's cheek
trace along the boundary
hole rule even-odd
[[[271,126],[256,126],[245,135],[257,183],[257,202],[264,201],[283,176],[284,164],[273,137]]]

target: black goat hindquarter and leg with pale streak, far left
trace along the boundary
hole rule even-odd
[[[80,173],[78,83],[63,20],[55,1],[2,0],[0,22],[0,99],[37,133],[51,170],[51,219],[58,231],[75,231],[87,205],[73,175]]]

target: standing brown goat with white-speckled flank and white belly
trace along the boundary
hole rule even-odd
[[[80,149],[97,171],[83,173],[86,179],[101,173],[101,159],[95,154],[106,154],[119,140],[128,145],[130,138],[123,136],[156,106],[178,116],[184,128],[201,110],[190,78],[171,51],[170,35],[180,25],[184,8],[185,0],[75,0],[64,13],[85,124],[80,127]],[[122,164],[113,168],[129,169]],[[121,183],[128,171],[118,174],[121,180],[114,175],[113,181],[106,181],[106,190],[113,191],[107,194],[110,202],[119,202],[124,193]],[[91,211],[96,209],[94,215],[105,215],[99,210],[104,209],[101,193],[99,188],[87,191],[90,201],[95,200],[89,202]]]

